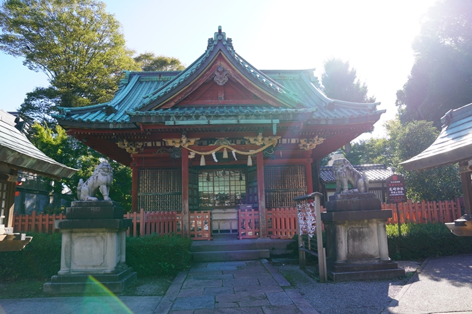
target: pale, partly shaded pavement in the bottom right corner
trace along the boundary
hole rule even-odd
[[[472,254],[426,259],[387,313],[472,313]]]

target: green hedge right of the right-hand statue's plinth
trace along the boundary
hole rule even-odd
[[[426,257],[472,253],[472,237],[455,236],[441,223],[387,225],[391,259],[424,259]]]

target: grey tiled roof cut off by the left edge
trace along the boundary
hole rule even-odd
[[[59,179],[71,177],[77,171],[44,155],[15,128],[15,117],[0,110],[0,162],[11,168]]]

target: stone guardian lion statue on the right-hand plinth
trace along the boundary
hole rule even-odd
[[[369,192],[369,179],[355,170],[348,159],[336,159],[332,163],[332,173],[336,179],[336,194]],[[351,183],[355,189],[349,190],[348,183]]]

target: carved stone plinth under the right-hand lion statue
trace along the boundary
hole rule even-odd
[[[373,193],[337,194],[326,202],[321,220],[326,229],[326,264],[334,281],[389,279],[405,275],[391,262],[382,210]]]

